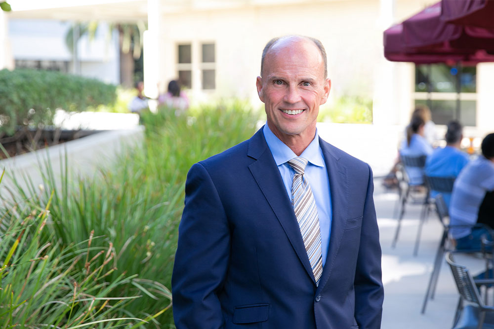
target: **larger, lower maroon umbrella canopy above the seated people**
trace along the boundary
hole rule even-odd
[[[417,64],[493,62],[494,30],[441,20],[441,2],[384,32],[384,56]]]

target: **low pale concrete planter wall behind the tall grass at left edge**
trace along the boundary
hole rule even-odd
[[[23,176],[29,177],[36,187],[42,184],[41,168],[46,161],[51,163],[57,182],[60,182],[60,174],[63,170],[61,165],[65,166],[65,157],[72,174],[91,175],[102,166],[118,165],[115,164],[115,160],[124,147],[138,145],[142,143],[143,138],[143,126],[126,130],[109,130],[1,160],[0,170],[5,169],[5,175],[0,184],[0,200],[11,199],[8,188],[14,186],[13,177],[21,182],[22,187],[27,186]]]

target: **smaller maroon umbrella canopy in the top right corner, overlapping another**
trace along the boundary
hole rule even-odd
[[[494,1],[442,0],[441,19],[445,23],[494,28]]]

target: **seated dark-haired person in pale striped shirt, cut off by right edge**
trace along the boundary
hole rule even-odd
[[[482,155],[469,162],[454,182],[450,205],[450,223],[453,227],[450,234],[456,240],[456,249],[480,249],[480,238],[488,230],[472,226],[477,223],[487,192],[493,190],[494,133],[482,141]],[[494,218],[485,223],[493,226]]]

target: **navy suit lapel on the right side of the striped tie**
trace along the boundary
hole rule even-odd
[[[323,289],[328,281],[332,264],[338,254],[338,250],[341,246],[341,239],[343,237],[343,231],[346,223],[346,213],[348,209],[348,176],[346,175],[346,168],[338,161],[339,156],[335,156],[334,152],[330,149],[328,143],[319,139],[319,145],[323,150],[324,162],[328,170],[329,177],[329,190],[331,192],[331,234],[329,237],[328,256],[326,257],[326,263],[323,268],[323,274],[321,281],[317,289],[318,293]]]

